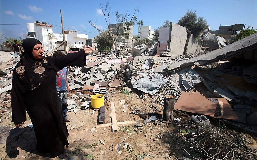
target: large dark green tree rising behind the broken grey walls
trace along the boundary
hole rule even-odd
[[[188,33],[198,37],[207,26],[207,21],[203,17],[197,17],[196,10],[189,11],[178,20],[180,26],[188,28]],[[188,34],[188,35],[189,35]]]

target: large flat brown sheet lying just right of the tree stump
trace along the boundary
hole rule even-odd
[[[182,92],[174,108],[186,112],[214,116],[217,105],[206,99],[199,92]],[[225,113],[224,113],[225,115]]]

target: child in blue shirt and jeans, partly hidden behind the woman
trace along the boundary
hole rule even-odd
[[[56,51],[53,53],[53,56],[64,56],[64,53],[61,51]],[[62,70],[59,70],[59,72],[56,73],[56,89],[59,96],[59,101],[62,108],[63,118],[66,122],[70,122],[71,118],[67,116],[67,97],[68,93],[70,93],[70,88],[66,79],[67,76],[66,67],[64,67]]]

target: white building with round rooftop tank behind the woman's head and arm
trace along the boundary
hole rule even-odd
[[[47,27],[47,28],[46,28]],[[27,23],[27,34],[23,34],[24,38],[36,38],[38,39],[44,48],[44,50],[51,50],[51,44],[48,37],[49,34],[53,34],[52,36],[52,49],[59,46],[61,42],[63,42],[62,33],[53,33],[52,25],[45,25],[40,22]],[[48,30],[48,32],[47,32]],[[67,47],[70,48],[82,48],[82,46],[87,44],[88,35],[87,34],[79,34],[76,31],[64,31],[65,40],[67,42]]]

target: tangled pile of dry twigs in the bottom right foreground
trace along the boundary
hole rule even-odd
[[[182,127],[185,134],[169,133],[181,138],[186,142],[181,148],[187,153],[188,158],[197,160],[225,160],[225,159],[256,159],[252,151],[244,151],[239,146],[245,146],[241,141],[237,141],[235,136],[229,133],[223,121],[212,128],[195,127],[194,132],[190,126]],[[245,146],[246,148],[246,146]]]

